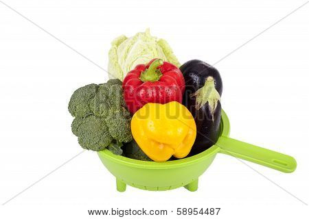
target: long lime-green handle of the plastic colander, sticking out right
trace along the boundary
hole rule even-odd
[[[216,145],[220,147],[220,153],[245,159],[282,172],[293,172],[297,166],[293,157],[233,138],[221,136]]]

